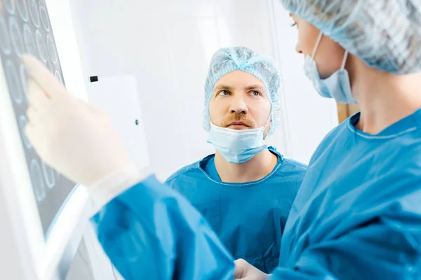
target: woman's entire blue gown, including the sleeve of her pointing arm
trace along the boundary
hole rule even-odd
[[[273,279],[421,278],[421,110],[377,135],[356,130],[358,120],[336,127],[314,153]],[[93,221],[127,279],[144,271],[165,272],[150,279],[232,279],[232,258],[210,226],[153,178]]]

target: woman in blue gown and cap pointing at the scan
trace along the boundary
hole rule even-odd
[[[357,113],[316,149],[288,217],[279,267],[234,260],[181,195],[135,169],[107,114],[33,57],[26,134],[82,183],[100,243],[126,279],[420,279],[421,3],[281,0],[317,92]]]

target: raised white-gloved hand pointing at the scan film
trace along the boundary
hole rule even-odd
[[[30,76],[25,134],[42,160],[87,187],[133,166],[105,111],[69,94],[34,57],[22,61]]]

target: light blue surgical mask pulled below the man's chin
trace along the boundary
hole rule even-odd
[[[270,116],[265,127],[250,130],[232,130],[210,122],[208,143],[212,144],[227,162],[247,162],[267,148],[265,130],[269,120]]]

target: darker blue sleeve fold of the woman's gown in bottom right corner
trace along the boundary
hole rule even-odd
[[[338,239],[315,242],[273,279],[420,279],[419,218],[387,217]]]

